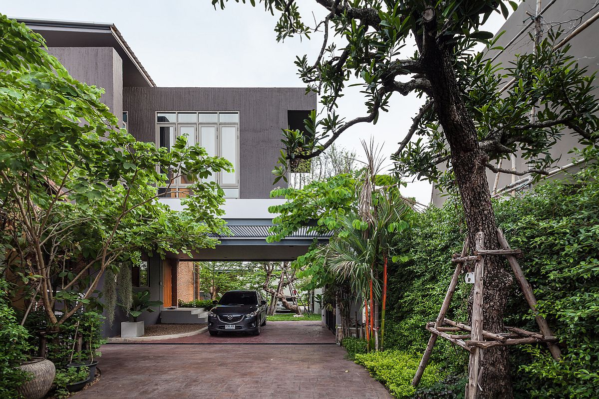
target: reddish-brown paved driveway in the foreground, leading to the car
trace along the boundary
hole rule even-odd
[[[104,345],[101,351],[102,378],[75,399],[391,398],[337,345],[181,342]]]

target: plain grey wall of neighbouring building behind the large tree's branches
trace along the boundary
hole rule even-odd
[[[549,0],[542,0],[541,9],[548,3]],[[586,16],[582,16],[582,14],[585,11],[591,10],[594,4],[595,0],[577,0],[576,2],[556,1],[543,13],[544,33],[546,33],[550,26],[554,26],[554,29],[557,29],[556,23],[563,22],[561,29],[565,31],[565,34],[562,35],[561,38],[565,38],[567,33],[570,33],[573,29],[576,29],[576,26],[579,26],[589,19],[589,17],[593,16],[595,11],[588,13]],[[498,46],[506,47],[512,38],[525,28],[528,22],[530,22],[530,17],[526,14],[526,11],[534,14],[535,5],[536,0],[525,0],[519,5],[518,10],[510,16],[497,32],[506,31],[506,33],[504,33],[498,40]],[[579,20],[579,18],[581,19]],[[506,50],[497,57],[495,63],[501,63],[504,68],[509,68],[510,61],[515,60],[516,54],[531,53],[533,51],[533,42],[531,41],[529,33],[533,32],[534,24],[531,25],[525,33],[519,36],[513,44],[507,47]],[[568,51],[568,54],[578,60],[578,65],[580,67],[588,67],[589,75],[599,71],[599,47],[597,47],[598,34],[599,22],[595,22],[569,42],[571,48]],[[497,51],[490,51],[489,57],[492,58],[495,54],[497,54]],[[595,95],[599,95],[597,90],[595,90]],[[555,162],[554,165],[559,167],[571,163],[573,154],[568,154],[568,151],[574,147],[580,147],[577,142],[577,136],[569,135],[566,130],[559,142],[550,150],[550,154],[552,154],[553,158],[557,159],[561,156],[561,159]],[[516,169],[527,170],[528,166],[525,162],[526,160],[522,159],[522,157],[516,156]],[[509,160],[504,160],[501,167],[511,169],[512,165]],[[571,169],[571,171],[574,170],[576,169]],[[557,175],[554,175],[553,178],[563,178],[563,176],[562,173],[558,173]],[[487,170],[487,178],[489,180],[489,189],[492,190],[495,181],[495,173]],[[516,178],[519,179],[522,177],[517,176]],[[502,173],[500,175],[498,188],[504,187],[511,182],[512,175]],[[445,197],[441,197],[439,191],[433,188],[432,203],[436,206],[441,206],[444,201]]]

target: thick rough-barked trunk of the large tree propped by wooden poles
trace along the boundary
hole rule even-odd
[[[435,111],[449,143],[455,180],[464,208],[471,249],[475,234],[485,233],[485,248],[498,249],[495,215],[485,172],[486,154],[480,150],[476,129],[458,86],[451,50],[429,51],[426,77],[431,81]],[[512,277],[499,257],[485,257],[483,290],[483,329],[503,333],[503,315]],[[470,312],[471,313],[471,312]],[[513,398],[506,347],[485,349],[482,365],[482,399]]]

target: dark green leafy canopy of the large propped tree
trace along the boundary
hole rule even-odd
[[[225,8],[227,1],[212,2]],[[279,17],[275,27],[278,41],[296,35],[310,38],[322,26],[335,37],[332,41],[325,35],[318,47],[322,50],[313,54],[313,59],[303,55],[295,60],[306,91],[317,93],[322,106],[304,122],[303,131],[283,131],[280,166],[273,171],[277,180],[285,177],[289,163],[297,165],[300,159],[322,153],[347,128],[357,123],[376,124],[380,113],[389,111],[396,93],[427,98],[407,133],[407,145],[396,154],[398,172],[434,180],[437,187],[455,184],[447,144],[461,140],[453,137],[450,126],[456,115],[447,118],[452,112],[437,110],[447,111],[458,103],[456,108],[463,105],[464,111],[455,112],[461,112],[464,121],[471,118],[474,122],[461,123],[462,131],[473,132],[469,139],[479,141],[480,150],[491,161],[518,153],[529,167],[542,170],[553,162],[549,149],[565,129],[585,144],[599,139],[598,102],[592,94],[594,75],[568,56],[568,45],[553,50],[561,39],[558,33],[547,32],[536,51],[516,54],[515,61],[504,65],[491,62],[488,54],[494,51],[475,53],[481,42],[489,50],[503,50],[497,45],[498,36],[494,38],[494,33],[480,28],[492,13],[507,18],[510,8],[518,7],[515,1],[356,0],[343,5],[314,1],[323,7],[314,24],[305,23],[297,0],[259,3]],[[431,68],[431,60],[441,59],[450,60],[454,70],[440,80],[443,74]],[[357,83],[347,83],[350,77]],[[500,90],[512,78],[515,84],[505,92]],[[443,100],[437,95],[437,101],[444,103],[433,107],[432,93],[449,90],[440,81],[452,85],[460,95]],[[365,112],[348,120],[338,113],[338,100],[350,86],[360,87]],[[539,123],[529,123],[533,105]]]

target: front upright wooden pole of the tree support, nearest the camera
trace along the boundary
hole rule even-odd
[[[476,234],[476,251],[485,249],[485,233]],[[485,274],[485,261],[483,259],[476,261],[474,267],[474,293],[472,303],[472,340],[483,340],[483,275]],[[470,352],[470,362],[468,364],[468,385],[465,397],[467,399],[476,399],[479,394],[479,363],[482,349],[475,347]]]

